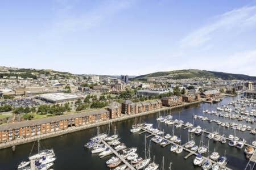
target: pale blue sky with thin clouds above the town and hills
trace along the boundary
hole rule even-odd
[[[256,76],[256,1],[0,1],[0,66]]]

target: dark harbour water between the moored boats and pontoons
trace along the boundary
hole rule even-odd
[[[160,126],[161,130],[164,130],[165,133],[172,134],[172,127],[167,126],[164,123],[156,121],[156,118],[159,114],[172,114],[173,119],[183,120],[186,122],[193,122],[193,114],[207,116],[209,118],[220,120],[222,122],[237,122],[238,124],[250,125],[252,128],[255,128],[255,123],[250,124],[245,121],[238,122],[237,120],[229,120],[228,118],[217,117],[212,114],[203,113],[203,109],[209,109],[209,111],[216,111],[218,105],[227,105],[232,100],[240,99],[240,97],[226,97],[219,104],[208,104],[201,103],[193,105],[187,108],[174,109],[172,111],[163,111],[156,112],[154,114],[148,114],[147,116],[137,117],[137,122],[148,122],[154,124],[154,128]],[[139,156],[144,158],[144,137],[148,135],[147,133],[143,134],[131,134],[131,126],[135,124],[135,119],[125,120],[122,122],[113,123],[110,125],[111,134],[114,133],[114,126],[117,128],[117,132],[121,138],[121,142],[125,143],[127,147],[137,147],[137,153]],[[201,121],[199,119],[195,120],[195,126],[200,125],[202,129],[207,129],[207,131],[212,131],[212,124],[214,124],[214,131],[219,129],[220,134],[225,133],[226,136],[229,134],[234,134],[232,128],[223,128],[216,123],[209,123],[208,121]],[[186,143],[188,140],[188,131],[182,128],[175,129],[175,135],[181,136],[182,142],[181,145]],[[108,125],[101,126],[101,131],[106,131]],[[224,130],[225,129],[225,130]],[[90,153],[90,150],[84,147],[84,144],[88,142],[90,137],[96,134],[96,128],[86,129],[82,131],[77,131],[75,133],[63,135],[61,137],[44,139],[42,143],[43,148],[53,148],[56,154],[56,162],[53,169],[109,169],[106,167],[106,160],[110,159],[111,156],[100,159],[96,154],[93,155]],[[247,143],[256,141],[256,135],[250,134],[249,131],[238,131],[236,130],[237,137],[245,138]],[[206,136],[206,135],[205,135]],[[147,138],[147,144],[151,138]],[[196,145],[199,145],[201,139],[200,136],[195,137]],[[204,144],[208,145],[208,138],[204,138]],[[6,148],[0,150],[0,169],[15,169],[23,160],[27,160],[28,155],[30,155],[31,148],[34,146],[32,153],[35,153],[37,150],[36,143],[27,143],[24,145],[16,146],[16,150],[13,152],[11,148]],[[183,151],[181,154],[177,155],[170,152],[170,145],[166,147],[161,147],[155,143],[151,143],[150,155],[151,158],[155,156],[155,163],[161,165],[162,158],[164,156],[164,169],[168,169],[170,162],[172,162],[172,169],[201,169],[200,167],[193,165],[193,159],[195,156],[190,156],[188,159],[184,159],[184,156],[188,152]],[[227,167],[232,169],[244,169],[248,160],[245,158],[243,152],[243,147],[241,150],[236,147],[230,147],[228,142],[222,144],[221,142],[214,142],[213,140],[209,141],[209,150],[212,152],[216,149],[220,155],[224,155],[226,151],[226,156],[228,158]],[[204,154],[207,156],[208,154]]]

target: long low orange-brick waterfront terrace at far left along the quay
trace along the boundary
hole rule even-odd
[[[109,120],[109,118],[109,111],[106,111],[106,109],[100,109],[97,111],[0,125],[0,142],[12,141],[17,138],[32,137],[38,134],[46,134],[53,131],[67,129],[72,126],[77,127],[86,124],[93,124],[95,122]]]

